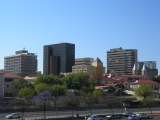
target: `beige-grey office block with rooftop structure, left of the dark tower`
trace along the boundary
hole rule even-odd
[[[16,51],[15,55],[4,57],[4,70],[21,76],[35,75],[37,72],[37,55],[27,50]]]

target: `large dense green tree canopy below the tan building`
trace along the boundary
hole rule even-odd
[[[70,74],[62,78],[62,82],[68,89],[82,89],[83,86],[89,87],[89,74],[86,72],[80,72]]]

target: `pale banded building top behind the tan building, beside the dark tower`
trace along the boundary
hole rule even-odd
[[[75,65],[92,65],[94,58],[76,58]]]

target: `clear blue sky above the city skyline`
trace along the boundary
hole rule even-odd
[[[28,50],[43,71],[43,46],[75,44],[75,58],[137,49],[138,61],[156,61],[160,74],[159,0],[0,0],[0,69],[4,57]]]

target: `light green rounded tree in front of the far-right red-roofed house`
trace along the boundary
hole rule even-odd
[[[150,96],[152,94],[152,91],[153,89],[148,85],[141,85],[134,90],[135,95],[142,96],[144,99],[146,99],[147,96]]]

